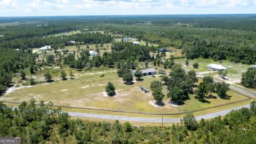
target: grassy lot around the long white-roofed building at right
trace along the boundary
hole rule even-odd
[[[186,59],[177,59],[175,60],[176,63],[180,63],[182,66],[186,67],[185,62]],[[199,68],[193,68],[193,63],[198,62]],[[198,58],[194,60],[189,60],[189,66],[186,67],[191,70],[195,70],[196,72],[209,72],[209,69],[206,67],[206,65],[209,65],[211,63],[215,63],[218,65],[222,65],[226,68],[228,68],[228,78],[230,83],[239,83],[242,78],[242,73],[244,73],[247,68],[250,67],[250,65],[246,65],[243,63],[236,63],[233,65],[233,62],[227,61],[227,60],[222,60],[222,63],[219,63],[219,61],[213,61],[212,59],[203,59],[203,58]],[[211,75],[217,77],[218,73],[217,71],[212,71],[211,70]]]

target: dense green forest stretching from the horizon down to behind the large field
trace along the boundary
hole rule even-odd
[[[89,59],[88,50],[78,59],[71,53],[68,57],[55,53],[55,57],[63,59],[63,65],[70,68],[113,67],[115,63],[119,68],[124,61],[127,68],[134,68],[136,61],[154,61],[158,65],[162,62],[165,54],[159,53],[157,47],[113,42],[120,36],[110,34],[156,43],[159,47],[173,46],[182,49],[187,59],[203,57],[253,64],[256,61],[255,17],[254,14],[6,17],[0,20],[0,90],[10,86],[17,70],[36,67],[38,55],[32,54],[31,48],[50,45],[55,50],[63,49],[68,41],[76,41],[77,45],[113,43],[111,54],[93,59]],[[81,34],[53,36],[73,30]],[[89,33],[93,30],[106,33]],[[150,53],[154,57],[150,57]]]

